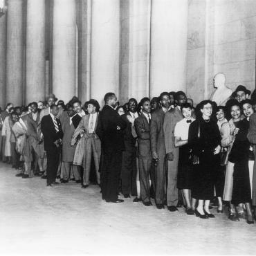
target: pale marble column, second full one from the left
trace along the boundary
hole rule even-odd
[[[45,98],[45,0],[28,0],[26,28],[26,104]]]

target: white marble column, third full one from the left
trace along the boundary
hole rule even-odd
[[[53,3],[53,93],[67,102],[75,95],[75,0]]]

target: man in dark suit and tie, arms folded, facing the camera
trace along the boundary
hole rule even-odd
[[[152,154],[150,151],[150,122],[151,105],[149,98],[140,101],[141,115],[135,120],[138,134],[138,169],[140,174],[140,198],[146,206],[152,205],[150,201],[150,170]]]

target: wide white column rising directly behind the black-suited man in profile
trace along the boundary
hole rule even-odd
[[[91,98],[119,95],[120,1],[92,0]]]

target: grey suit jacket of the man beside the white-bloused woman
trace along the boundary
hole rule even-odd
[[[179,150],[179,147],[174,145],[174,129],[177,122],[183,119],[183,114],[178,107],[167,111],[165,120],[163,122],[163,133],[165,136],[165,150],[166,154]]]

